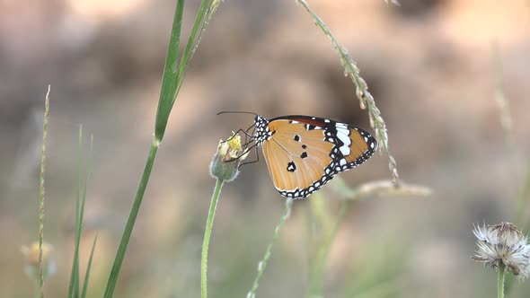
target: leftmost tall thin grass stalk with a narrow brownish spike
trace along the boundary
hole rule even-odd
[[[46,171],[46,139],[48,137],[49,92],[44,99],[44,123],[42,124],[42,149],[40,151],[40,189],[39,189],[39,289],[40,298],[44,298],[44,268],[42,264],[42,242],[44,241],[44,172]]]

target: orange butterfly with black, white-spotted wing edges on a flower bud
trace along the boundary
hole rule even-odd
[[[252,134],[252,127],[240,129],[251,139],[245,151],[262,147],[270,178],[283,197],[309,197],[377,150],[374,136],[346,123],[300,115],[270,119],[254,115]]]

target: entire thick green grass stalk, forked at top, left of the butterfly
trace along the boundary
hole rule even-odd
[[[107,281],[107,286],[105,287],[105,298],[110,298],[114,294],[114,289],[118,281],[121,265],[123,264],[123,259],[125,258],[125,254],[127,252],[128,241],[136,223],[137,214],[142,204],[144,194],[146,193],[146,187],[151,175],[151,171],[153,170],[156,153],[163,140],[163,135],[165,133],[165,128],[167,127],[167,122],[171,114],[173,104],[177,99],[177,95],[181,89],[181,84],[184,80],[186,70],[188,69],[188,65],[190,63],[192,56],[190,54],[192,54],[194,50],[199,47],[199,28],[200,32],[206,29],[208,26],[208,21],[211,19],[211,16],[213,13],[215,13],[215,9],[218,6],[218,0],[213,2],[208,0],[201,1],[199,5],[199,12],[195,17],[193,28],[190,31],[190,38],[188,39],[188,43],[186,44],[186,47],[182,53],[181,59],[179,60],[184,3],[184,0],[177,0],[172,23],[171,37],[169,40],[169,46],[163,69],[162,89],[160,92],[160,99],[158,101],[158,109],[156,111],[155,136],[153,138],[153,142],[151,143],[151,149],[147,157],[146,167],[144,168],[142,178],[137,188],[137,194],[133,201],[133,205],[131,206],[128,220],[121,236],[121,241],[119,242],[119,248],[116,252],[114,263],[110,269],[109,279]],[[208,18],[205,17],[207,16],[207,13]],[[201,33],[199,33],[199,37],[200,36]]]

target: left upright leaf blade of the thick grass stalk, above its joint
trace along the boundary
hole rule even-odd
[[[162,90],[158,101],[155,120],[155,138],[162,141],[167,120],[177,97],[177,68],[179,64],[179,47],[181,44],[182,16],[184,0],[178,0],[173,19],[172,33],[163,66]]]

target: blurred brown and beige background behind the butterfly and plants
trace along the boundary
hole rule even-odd
[[[433,190],[431,197],[354,203],[331,249],[324,294],[493,297],[495,274],[470,259],[472,229],[473,223],[516,220],[530,156],[530,2],[400,2],[309,2],[357,61],[386,121],[401,179]],[[184,36],[199,0],[186,4]],[[57,274],[49,278],[47,296],[67,292],[80,124],[85,157],[90,134],[94,138],[81,269],[98,232],[89,296],[102,296],[153,134],[174,5],[0,1],[1,297],[36,292],[24,274],[21,247],[38,235],[48,84],[45,239],[54,247]],[[499,86],[509,101],[513,135],[500,125]],[[220,138],[252,125],[249,115],[216,116],[221,110],[314,115],[372,131],[337,52],[302,6],[294,0],[225,1],[172,111],[116,296],[199,296],[200,249],[215,184],[208,163]],[[341,178],[351,187],[388,180],[387,163],[375,154]],[[336,197],[328,186],[295,203],[260,297],[304,296],[323,224],[312,199],[334,221]],[[210,243],[210,296],[246,295],[284,202],[263,160],[225,185]],[[516,282],[512,297],[526,297],[529,289],[528,282]]]

